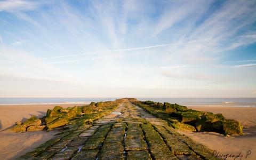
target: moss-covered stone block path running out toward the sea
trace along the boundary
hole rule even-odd
[[[34,159],[214,159],[210,149],[129,101],[93,125],[69,127],[54,140]]]

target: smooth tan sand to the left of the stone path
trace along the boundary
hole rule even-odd
[[[59,105],[62,107],[79,106],[80,104]],[[56,105],[15,105],[0,106],[0,130],[4,130],[17,121],[26,121],[31,115],[42,117],[47,109]],[[45,141],[54,137],[57,132],[0,132],[0,159],[14,159],[33,150]]]

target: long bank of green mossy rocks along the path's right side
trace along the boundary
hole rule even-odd
[[[146,109],[150,114],[168,121],[176,129],[218,132],[228,135],[243,134],[243,126],[238,121],[225,119],[222,114],[188,109],[186,106],[176,103],[165,102],[164,105],[153,101],[133,101],[132,103]]]

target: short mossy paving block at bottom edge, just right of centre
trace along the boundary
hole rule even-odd
[[[152,158],[150,157],[150,154],[148,153],[147,150],[127,151],[127,160],[137,160],[137,159],[150,160]]]

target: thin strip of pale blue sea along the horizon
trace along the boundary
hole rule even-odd
[[[0,105],[60,105],[113,101],[119,98],[0,98]],[[256,107],[256,98],[137,98],[141,101],[178,103],[183,106]]]

